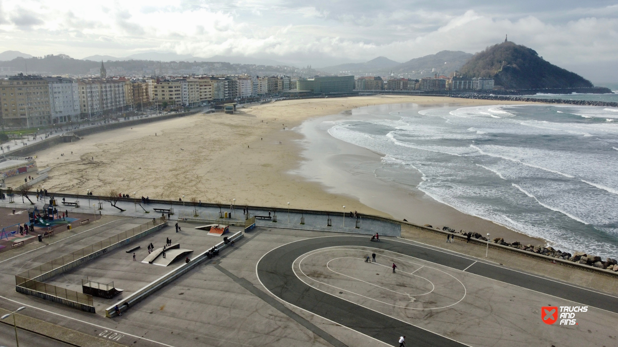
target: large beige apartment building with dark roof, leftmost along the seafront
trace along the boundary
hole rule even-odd
[[[19,73],[0,80],[0,102],[0,115],[8,127],[51,123],[49,83],[43,77]]]

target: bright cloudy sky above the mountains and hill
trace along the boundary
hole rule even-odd
[[[618,79],[616,0],[0,0],[0,52],[33,56],[174,52],[323,67],[475,53],[507,34],[553,64]]]

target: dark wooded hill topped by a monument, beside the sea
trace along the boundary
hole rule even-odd
[[[588,88],[593,84],[577,73],[545,61],[533,49],[505,41],[476,53],[462,66],[468,77],[493,77],[507,89]]]

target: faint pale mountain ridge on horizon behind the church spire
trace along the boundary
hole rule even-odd
[[[195,57],[191,54],[176,54],[176,53],[159,53],[159,52],[146,52],[132,54],[126,57],[112,57],[112,56],[89,56],[85,57],[84,61],[161,61],[161,62],[229,62],[230,64],[254,64],[254,65],[289,65],[284,62],[275,61],[273,59],[260,59],[252,57],[232,57],[232,56],[212,56],[210,58]]]

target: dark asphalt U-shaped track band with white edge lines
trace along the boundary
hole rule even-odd
[[[400,335],[405,335],[409,346],[465,346],[428,330],[316,290],[296,277],[292,264],[298,257],[316,249],[334,246],[381,248],[618,313],[618,298],[614,296],[396,240],[383,239],[379,242],[371,242],[366,236],[310,238],[275,248],[258,262],[256,266],[258,278],[277,297],[389,345],[393,345]]]

